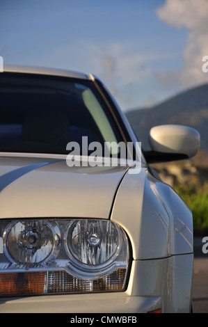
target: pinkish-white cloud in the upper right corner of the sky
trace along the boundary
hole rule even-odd
[[[202,72],[202,57],[208,55],[208,1],[166,0],[157,10],[158,17],[166,24],[185,27],[189,37],[183,49],[184,66],[174,72],[160,72],[158,79],[164,85],[194,86],[208,81]]]

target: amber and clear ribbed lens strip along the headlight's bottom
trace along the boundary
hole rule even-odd
[[[125,280],[125,269],[115,269],[97,280],[81,280],[65,271],[0,273],[0,296],[122,292]]]

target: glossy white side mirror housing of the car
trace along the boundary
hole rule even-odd
[[[200,148],[198,131],[182,125],[152,127],[149,141],[154,151],[186,154],[187,157],[193,157]]]

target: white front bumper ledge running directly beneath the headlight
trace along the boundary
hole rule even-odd
[[[74,294],[0,300],[0,313],[145,313],[161,308],[161,298],[113,294]],[[125,308],[122,309],[122,308]]]

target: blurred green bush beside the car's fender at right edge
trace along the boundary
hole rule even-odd
[[[208,232],[208,186],[175,186],[175,191],[190,207],[193,213],[194,234]]]

